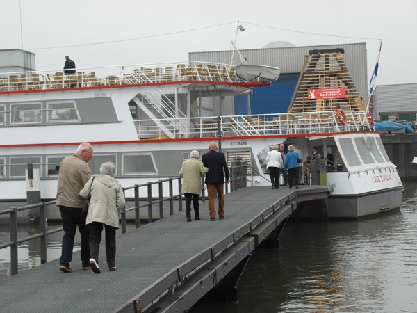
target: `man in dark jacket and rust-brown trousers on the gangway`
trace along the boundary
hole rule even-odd
[[[224,218],[224,175],[226,176],[226,184],[229,184],[230,173],[224,153],[216,151],[218,150],[217,144],[210,143],[208,150],[209,152],[203,154],[202,162],[208,168],[206,174],[208,210],[210,211],[210,220],[213,222],[215,220],[215,191],[218,193],[219,218],[220,220]]]

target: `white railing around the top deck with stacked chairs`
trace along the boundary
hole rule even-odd
[[[67,70],[65,70],[67,71]],[[242,81],[230,65],[182,61],[146,65],[76,68],[72,74],[64,70],[0,73],[1,91],[86,88],[168,81]]]

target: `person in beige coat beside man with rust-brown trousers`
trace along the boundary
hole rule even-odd
[[[187,222],[191,221],[191,201],[193,200],[195,220],[199,220],[199,194],[202,192],[202,174],[208,172],[208,168],[199,161],[199,152],[193,150],[190,152],[190,159],[183,161],[179,176],[182,180],[181,191],[186,197],[186,218]]]

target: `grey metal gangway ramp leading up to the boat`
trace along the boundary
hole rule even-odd
[[[100,274],[83,271],[77,251],[73,273],[59,271],[56,259],[0,281],[0,312],[184,312],[274,232],[276,241],[297,201],[326,201],[332,189],[263,186],[229,193],[223,220],[211,222],[203,203],[202,220],[187,223],[182,211],[117,236],[117,271],[104,263],[103,240]]]

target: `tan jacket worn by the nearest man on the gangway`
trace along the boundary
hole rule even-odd
[[[79,193],[90,177],[90,166],[78,154],[63,159],[59,166],[56,205],[82,209],[85,199]]]

